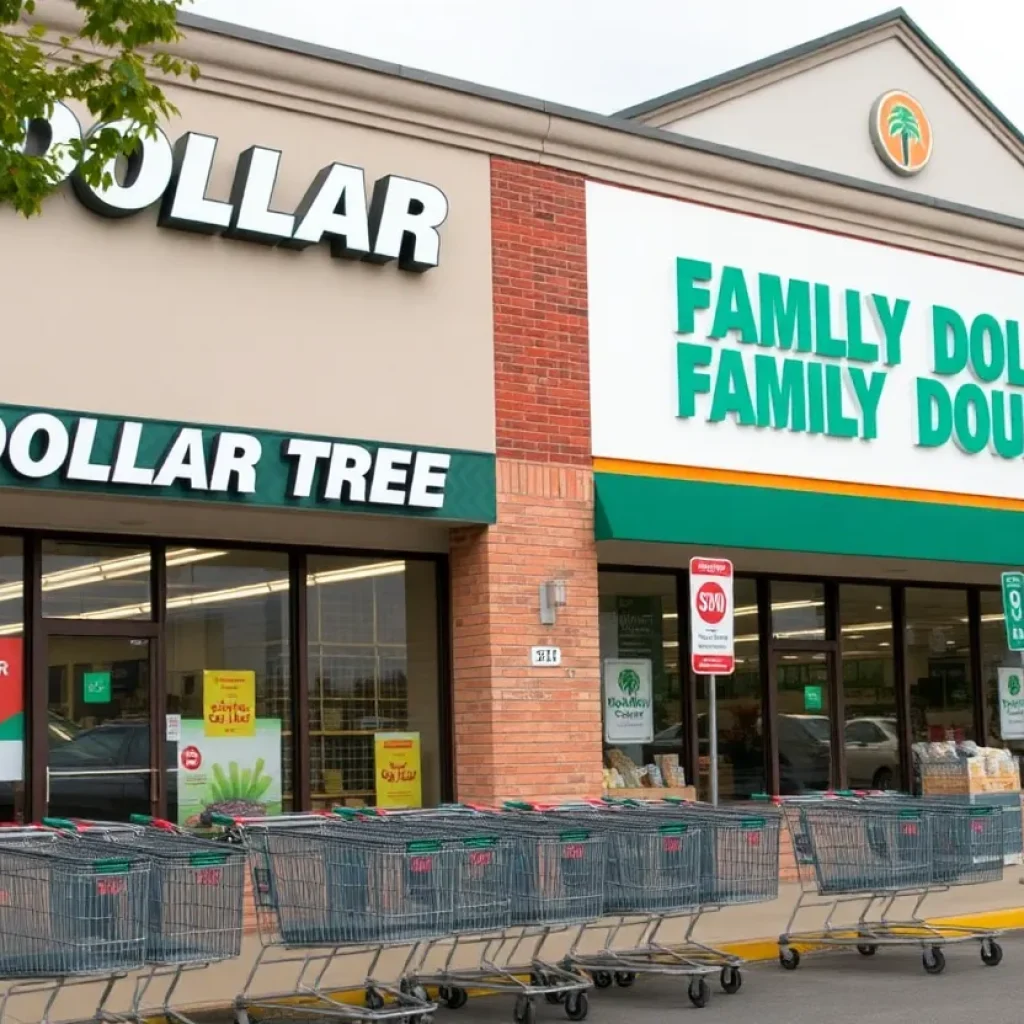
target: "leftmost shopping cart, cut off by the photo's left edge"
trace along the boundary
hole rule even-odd
[[[12,999],[42,998],[42,1024],[72,985],[118,979],[145,961],[150,862],[130,850],[42,828],[0,829],[0,1022]]]

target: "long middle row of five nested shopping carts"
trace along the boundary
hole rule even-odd
[[[225,821],[249,851],[263,939],[237,1017],[291,1004],[295,992],[253,993],[289,950],[299,989],[341,1019],[422,1019],[437,1006],[430,990],[458,1009],[473,988],[511,995],[517,1024],[541,998],[579,1021],[591,987],[641,974],[688,979],[702,1007],[709,975],[729,993],[742,976],[737,957],[696,941],[696,924],[774,898],[780,820],[774,809],[625,802]],[[400,980],[388,984],[379,972],[398,948],[386,973]],[[335,962],[368,949],[364,1005],[339,1004]]]

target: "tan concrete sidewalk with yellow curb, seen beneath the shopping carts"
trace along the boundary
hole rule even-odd
[[[1001,882],[964,886],[945,893],[937,893],[928,898],[923,911],[930,921],[950,924],[955,921],[983,928],[1024,930],[1022,879],[1024,869],[1008,866]],[[799,886],[783,883],[779,887],[778,898],[770,903],[729,907],[717,913],[707,914],[698,925],[696,938],[744,959],[774,958],[777,953],[779,932],[785,927],[799,893]],[[898,919],[901,913],[905,915],[911,906],[910,900],[898,901],[890,916]],[[834,918],[834,924],[853,923],[860,908],[857,904],[843,907],[842,912]],[[823,920],[823,911],[802,913],[797,921],[796,930],[817,930]],[[682,931],[681,927],[675,931],[666,929],[660,938],[671,942],[674,938],[681,938]],[[614,945],[628,945],[632,934],[634,933],[630,931],[621,932],[618,941]],[[586,941],[581,946],[582,950],[600,948],[605,942],[606,935],[605,928],[596,927],[588,933]],[[564,954],[573,936],[574,932],[552,936],[545,946],[544,958],[557,961]],[[226,1021],[230,1016],[228,1010],[232,999],[242,991],[260,948],[258,936],[247,935],[243,943],[242,956],[238,961],[218,964],[186,975],[178,987],[173,1005],[189,1012],[199,1012],[204,1017],[207,1015],[204,1011],[212,1010],[215,1011],[213,1015],[215,1019]],[[460,962],[472,963],[473,956],[478,954],[478,947],[467,948],[466,955],[460,957]],[[377,980],[387,982],[394,979],[406,961],[406,955],[407,950],[403,949],[388,950],[379,965]],[[361,983],[369,966],[369,957],[361,953],[342,958],[333,965],[325,984],[332,989],[361,990]],[[299,967],[295,963],[263,966],[259,972],[256,990],[262,993],[294,991],[298,972]],[[132,986],[131,978],[119,982],[109,1009],[113,1011],[127,1009],[131,1005]],[[155,1008],[162,1006],[165,988],[166,984],[163,981],[155,982],[145,1005]],[[91,1007],[98,999],[98,992],[99,988],[94,984],[68,989],[61,993],[53,1007],[51,1019],[75,1020],[88,1016]],[[353,998],[361,999],[360,991],[356,992]],[[13,1020],[23,1021],[25,1024],[36,1024],[41,1020],[42,1006],[43,1002],[38,994],[15,996],[8,1005],[8,1014]]]

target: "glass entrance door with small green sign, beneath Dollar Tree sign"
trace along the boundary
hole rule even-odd
[[[47,639],[47,813],[127,820],[158,813],[151,641]]]

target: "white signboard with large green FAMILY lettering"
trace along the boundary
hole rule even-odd
[[[596,182],[587,260],[595,458],[1020,498],[1019,274]]]

